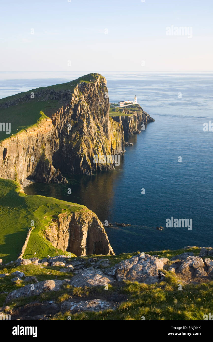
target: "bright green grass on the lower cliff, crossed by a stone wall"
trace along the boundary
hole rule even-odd
[[[44,258],[46,255],[64,254],[43,238],[43,229],[58,214],[88,210],[86,207],[61,201],[52,197],[29,196],[21,193],[15,181],[0,179],[0,258],[4,263],[17,259],[30,228],[31,220],[35,229],[24,254],[26,258]],[[45,217],[45,218],[44,218]]]

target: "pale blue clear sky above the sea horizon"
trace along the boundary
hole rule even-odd
[[[212,0],[0,4],[0,71],[213,70]]]

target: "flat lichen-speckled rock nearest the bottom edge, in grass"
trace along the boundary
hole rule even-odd
[[[77,313],[81,311],[99,312],[99,311],[104,311],[108,309],[115,310],[116,308],[114,304],[106,302],[103,299],[92,299],[88,301],[81,301],[79,303],[65,301],[61,305],[62,312],[72,311],[73,313]]]

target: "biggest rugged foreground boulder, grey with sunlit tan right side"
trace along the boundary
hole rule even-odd
[[[130,280],[154,284],[160,279],[159,270],[163,269],[163,262],[149,254],[141,253],[128,260],[119,262],[112,268],[113,271],[114,268],[118,281]]]

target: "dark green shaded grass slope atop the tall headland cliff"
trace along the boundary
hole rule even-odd
[[[50,101],[36,101],[36,92],[45,89],[55,89],[57,90],[70,90],[71,92],[74,91],[74,88],[77,84],[81,82],[89,83],[92,80],[97,78],[97,74],[89,74],[78,78],[77,80],[55,84],[54,86],[49,87],[42,87],[29,90],[27,92],[19,93],[16,95],[4,97],[0,100],[0,105],[4,104],[9,101],[13,101],[19,98],[22,98],[26,94],[29,95],[29,102],[23,102],[16,106],[10,106],[6,109],[0,109],[0,122],[10,122],[11,123],[11,133],[6,134],[6,132],[0,132],[0,141],[4,139],[8,139],[12,134],[16,134],[26,128],[34,126],[40,120],[50,116],[54,113],[57,109],[63,105],[62,102],[58,102],[55,100]],[[30,98],[30,93],[35,93],[35,98]],[[40,114],[42,111],[44,114]]]

